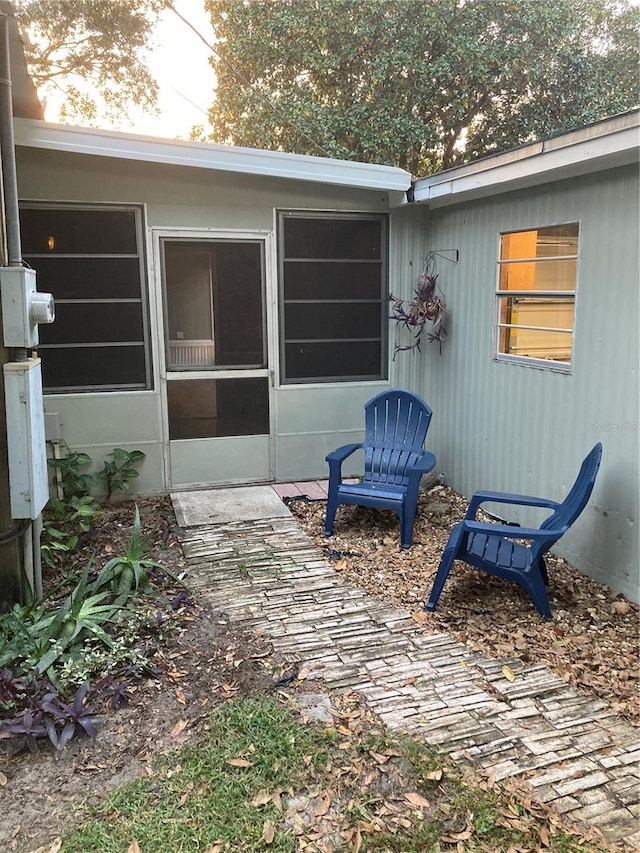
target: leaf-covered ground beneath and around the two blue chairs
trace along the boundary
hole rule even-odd
[[[423,610],[452,526],[467,501],[445,486],[422,492],[413,546],[400,550],[397,516],[342,506],[334,535],[324,536],[325,502],[289,508],[341,575],[414,614],[423,631],[447,631],[475,651],[544,663],[568,684],[597,696],[634,725],[638,701],[640,608],[550,555],[545,622],[516,584],[456,563],[435,613]]]

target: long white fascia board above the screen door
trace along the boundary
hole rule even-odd
[[[16,145],[30,148],[363,189],[406,191],[411,186],[409,172],[395,166],[159,139],[29,119],[16,119],[14,125]]]

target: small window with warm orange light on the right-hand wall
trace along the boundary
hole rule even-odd
[[[497,357],[566,369],[571,364],[578,223],[500,237]]]

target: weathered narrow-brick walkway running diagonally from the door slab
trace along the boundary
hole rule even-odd
[[[390,729],[473,758],[496,779],[523,776],[538,800],[640,849],[638,732],[604,702],[544,666],[422,633],[406,611],[344,583],[293,518],[191,527],[180,538],[193,585],[303,674],[358,691]]]

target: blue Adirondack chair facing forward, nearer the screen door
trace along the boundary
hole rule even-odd
[[[341,504],[390,509],[400,517],[400,542],[410,548],[418,504],[420,478],[436,464],[424,449],[431,409],[410,391],[394,389],[378,394],[364,407],[365,440],[345,444],[330,453],[329,493],[325,534],[333,533],[333,522]],[[361,483],[342,482],[342,463],[356,450],[364,450]]]

